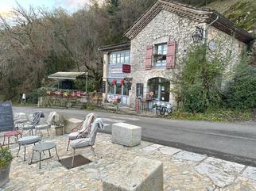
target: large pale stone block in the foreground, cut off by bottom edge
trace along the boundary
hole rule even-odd
[[[163,163],[136,157],[103,178],[103,191],[163,191]]]

